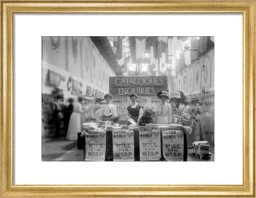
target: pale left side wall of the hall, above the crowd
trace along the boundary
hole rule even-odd
[[[45,94],[51,94],[54,86],[65,97],[107,93],[108,77],[115,76],[89,37],[42,37],[42,59]],[[55,85],[49,84],[49,71],[60,79]],[[71,93],[73,87],[81,90]]]

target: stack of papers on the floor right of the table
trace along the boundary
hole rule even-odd
[[[212,153],[210,152],[210,144],[208,141],[193,142],[193,154],[203,160],[210,160]]]

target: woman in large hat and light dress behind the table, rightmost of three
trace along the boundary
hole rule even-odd
[[[170,98],[170,94],[162,91],[157,94],[157,97],[161,100],[161,104],[157,106],[157,124],[170,124],[172,122],[172,106],[167,103],[167,100]]]

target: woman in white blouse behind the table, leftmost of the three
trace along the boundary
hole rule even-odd
[[[117,117],[116,106],[111,104],[113,96],[111,94],[105,94],[104,96],[106,104],[103,104],[100,108],[99,117],[101,121],[112,121],[112,118]]]

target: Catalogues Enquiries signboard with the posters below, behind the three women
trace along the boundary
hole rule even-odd
[[[157,93],[167,91],[167,76],[109,77],[109,93],[111,101],[116,105],[119,120],[127,120],[126,109],[131,105],[130,95],[137,94],[137,103],[143,108],[157,110],[161,100]]]

